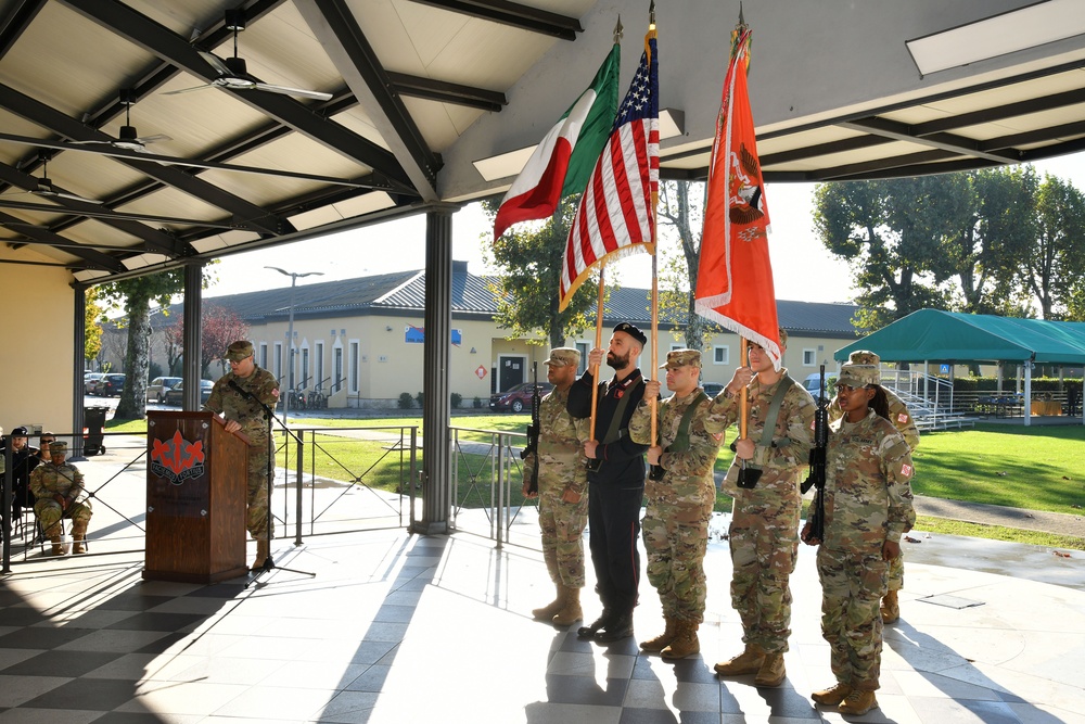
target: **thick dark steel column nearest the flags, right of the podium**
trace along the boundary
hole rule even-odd
[[[425,214],[425,345],[422,353],[422,520],[417,533],[447,533],[451,507],[448,360],[452,328],[452,214]]]

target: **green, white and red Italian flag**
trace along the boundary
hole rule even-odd
[[[494,219],[494,240],[513,224],[551,216],[562,196],[579,193],[610,137],[617,115],[617,43],[591,86],[558,119],[505,194]]]

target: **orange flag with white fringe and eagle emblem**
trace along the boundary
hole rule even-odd
[[[761,345],[780,369],[779,323],[768,257],[768,206],[746,92],[750,30],[732,35],[716,120],[694,308]]]

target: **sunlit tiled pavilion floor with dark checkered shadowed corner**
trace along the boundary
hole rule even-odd
[[[1012,564],[1017,549],[1001,545],[986,547]],[[702,655],[677,663],[638,653],[633,639],[603,647],[532,621],[552,593],[533,549],[393,530],[276,551],[316,576],[275,571],[248,588],[144,582],[133,555],[17,566],[0,590],[0,722],[842,721],[808,698],[831,675],[805,549],[778,689],[712,673],[740,647],[725,543],[711,545]],[[909,555],[881,708],[858,721],[1085,722],[1085,589]],[[641,599],[643,638],[662,621],[647,584]]]

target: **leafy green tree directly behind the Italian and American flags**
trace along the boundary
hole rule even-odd
[[[484,255],[487,263],[493,262],[500,270],[490,284],[497,300],[495,319],[509,330],[510,339],[524,338],[533,344],[538,343],[535,336],[542,335],[553,348],[590,326],[588,313],[597,305],[598,276],[576,290],[564,312],[558,310],[561,262],[576,203],[576,196],[563,200],[545,223],[510,229],[492,249],[489,238],[483,237],[483,244],[489,249]],[[496,199],[483,202],[490,219],[499,205]]]

